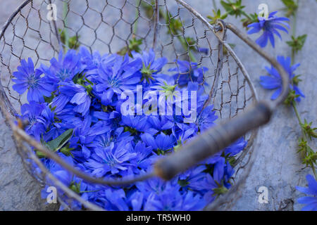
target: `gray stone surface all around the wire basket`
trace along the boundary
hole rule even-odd
[[[0,23],[3,24],[13,9],[22,2],[21,0],[2,0],[0,3]],[[212,1],[210,0],[187,0],[194,8],[197,8],[202,15],[211,14]],[[219,1],[216,1],[220,6]],[[269,11],[275,11],[282,7],[280,1],[270,0],[244,0],[248,12],[257,10],[259,4],[268,4]],[[97,3],[95,3],[97,4]],[[97,4],[98,5],[98,4]],[[76,6],[80,7],[80,6]],[[297,62],[302,63],[297,70],[302,74],[303,82],[300,87],[304,89],[306,98],[299,104],[299,113],[307,120],[316,124],[316,17],[317,4],[315,0],[300,1],[299,15],[297,20],[297,34],[309,32],[304,49],[298,54]],[[133,15],[131,15],[133,16]],[[87,18],[93,22],[93,18]],[[76,18],[70,18],[69,23]],[[229,17],[228,21],[240,25],[235,18]],[[93,23],[92,23],[93,24]],[[243,29],[240,26],[241,29]],[[88,32],[82,32],[88,35]],[[107,34],[105,37],[108,37]],[[256,38],[256,35],[252,36]],[[290,35],[283,34],[284,40],[290,39]],[[89,38],[86,39],[89,41]],[[228,35],[228,41],[237,44],[235,52],[240,57],[251,75],[256,89],[261,98],[270,98],[271,92],[261,89],[259,76],[266,75],[263,69],[268,65],[248,46],[239,41],[233,34]],[[89,44],[89,43],[87,43]],[[98,48],[96,44],[96,48]],[[266,48],[273,56],[290,56],[290,48],[281,41],[277,47]],[[2,120],[2,119],[0,119]],[[270,124],[261,129],[259,133],[259,144],[256,150],[259,151],[258,158],[249,174],[245,187],[242,189],[242,196],[236,200],[232,210],[300,210],[302,207],[296,202],[299,193],[294,186],[306,184],[305,176],[310,173],[304,169],[297,155],[297,139],[299,138],[299,127],[292,108],[281,106],[275,112]],[[316,149],[316,142],[311,143]],[[266,186],[269,190],[269,203],[259,204],[256,192],[259,186]],[[40,195],[39,186],[30,177],[20,162],[15,152],[11,132],[1,122],[0,126],[0,210],[46,210]]]

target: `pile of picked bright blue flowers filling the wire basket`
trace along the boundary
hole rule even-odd
[[[152,50],[101,56],[83,47],[78,52],[61,51],[49,67],[35,69],[30,58],[21,60],[13,73],[13,89],[18,94],[27,91],[28,103],[18,117],[28,122],[27,134],[91,176],[133,178],[151,172],[156,160],[212,127],[218,118],[212,105],[204,107],[208,96],[200,83],[207,69],[178,60],[178,67],[166,75],[166,63]],[[121,94],[137,94],[137,86],[143,93],[166,93],[166,98],[173,98],[176,90],[197,91],[197,117],[186,123],[185,115],[123,115]],[[147,100],[142,101],[145,104]],[[89,184],[35,152],[63,184],[105,210],[201,210],[232,186],[235,155],[246,145],[241,138],[172,181],[153,178],[124,188]],[[42,194],[46,198],[46,188]],[[67,198],[60,190],[58,196]],[[82,209],[75,201],[71,207]]]

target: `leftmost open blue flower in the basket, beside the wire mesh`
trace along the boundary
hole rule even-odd
[[[18,94],[23,94],[27,91],[27,101],[44,102],[44,96],[51,96],[54,91],[54,86],[49,84],[44,77],[41,77],[42,71],[35,70],[31,58],[27,62],[21,60],[21,65],[18,66],[18,71],[13,72],[15,79],[12,79],[15,84],[13,90]]]

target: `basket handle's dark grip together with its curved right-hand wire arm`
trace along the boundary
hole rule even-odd
[[[273,110],[280,103],[283,103],[288,96],[290,78],[284,68],[282,68],[282,65],[280,65],[275,58],[263,51],[263,49],[247,37],[246,34],[240,32],[234,25],[223,23],[222,20],[218,21],[218,24],[221,25],[222,28],[213,27],[215,34],[217,32],[224,32],[225,30],[223,29],[228,28],[278,70],[280,77],[282,78],[282,93],[275,101],[261,101],[256,103],[251,106],[249,110],[237,117],[234,117],[223,124],[219,124],[216,127],[212,127],[200,136],[197,136],[197,138],[190,141],[188,144],[185,144],[185,146],[178,150],[178,152],[170,154],[166,158],[156,162],[156,165],[154,165],[154,172],[156,176],[160,176],[162,179],[172,179],[180,172],[184,172],[189,167],[197,165],[197,163],[202,160],[223,150],[223,148],[239,139],[240,136],[247,134],[248,131],[266,124],[269,122]],[[223,25],[225,25],[225,27],[223,27]],[[216,36],[223,44],[226,44],[225,41],[220,38],[220,35],[216,34]]]

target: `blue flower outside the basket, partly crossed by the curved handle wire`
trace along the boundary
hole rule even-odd
[[[294,78],[294,71],[299,67],[299,63],[295,65],[291,65],[291,58],[290,57],[284,57],[284,56],[278,56],[277,58],[278,63],[282,65],[282,67],[285,69],[285,71],[290,76],[290,79],[292,80]],[[265,89],[274,90],[273,95],[271,96],[271,100],[275,100],[280,96],[280,92],[282,91],[282,79],[280,77],[280,74],[278,73],[278,70],[276,70],[273,66],[271,68],[266,67],[266,71],[268,71],[270,76],[261,76],[260,77],[260,84]],[[290,88],[295,91],[295,94],[299,95],[298,98],[296,98],[297,101],[301,101],[301,97],[305,98],[302,91],[296,86],[295,84],[290,84]]]

